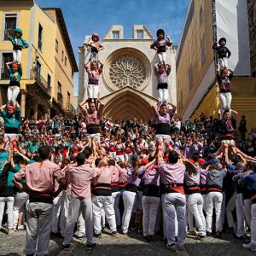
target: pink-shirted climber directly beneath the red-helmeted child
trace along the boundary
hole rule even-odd
[[[97,97],[99,94],[99,77],[102,73],[102,67],[103,64],[100,61],[88,61],[86,64],[84,64],[84,68],[88,73],[88,98],[90,100],[95,100],[96,106],[98,102]]]

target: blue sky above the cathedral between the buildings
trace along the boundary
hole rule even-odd
[[[189,0],[36,0],[40,7],[61,8],[73,52],[79,65],[79,46],[85,35],[97,32],[103,38],[110,26],[124,26],[124,38],[131,38],[133,25],[145,25],[155,37],[162,28],[178,45]],[[78,95],[79,73],[74,75]]]

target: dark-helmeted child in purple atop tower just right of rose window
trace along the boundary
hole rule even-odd
[[[172,46],[172,41],[167,35],[167,40],[165,40],[165,32],[162,29],[159,29],[156,32],[156,36],[157,40],[155,40],[154,43],[150,45],[150,48],[157,50],[160,64],[164,64],[166,66],[166,46]]]

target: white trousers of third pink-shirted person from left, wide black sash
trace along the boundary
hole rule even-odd
[[[105,216],[108,221],[110,230],[116,231],[115,215],[113,210],[113,197],[104,195],[94,195],[92,197],[92,212],[94,218],[94,231],[95,234],[102,232],[102,210],[105,212]]]

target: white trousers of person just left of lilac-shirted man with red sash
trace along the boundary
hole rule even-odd
[[[143,195],[143,236],[153,236],[160,198]]]

